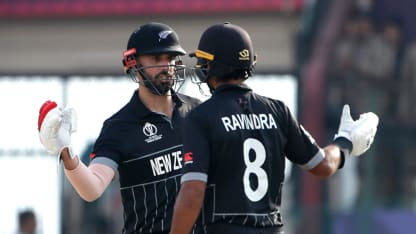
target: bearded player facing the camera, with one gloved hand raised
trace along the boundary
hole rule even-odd
[[[185,55],[168,25],[148,23],[130,36],[126,72],[139,84],[131,100],[108,118],[86,167],[70,147],[74,109],[46,102],[39,115],[41,143],[64,163],[65,174],[86,201],[99,198],[118,172],[124,208],[122,233],[168,233],[180,186],[181,132],[200,100],[178,93]]]

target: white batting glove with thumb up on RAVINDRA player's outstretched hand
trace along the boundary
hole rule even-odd
[[[363,113],[358,120],[353,120],[349,105],[344,105],[338,133],[334,143],[343,150],[345,157],[360,156],[365,153],[374,141],[379,118],[372,112]]]

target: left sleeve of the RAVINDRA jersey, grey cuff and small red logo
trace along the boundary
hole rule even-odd
[[[207,182],[209,170],[210,140],[204,120],[190,113],[183,126],[183,161],[181,183],[190,180]]]

